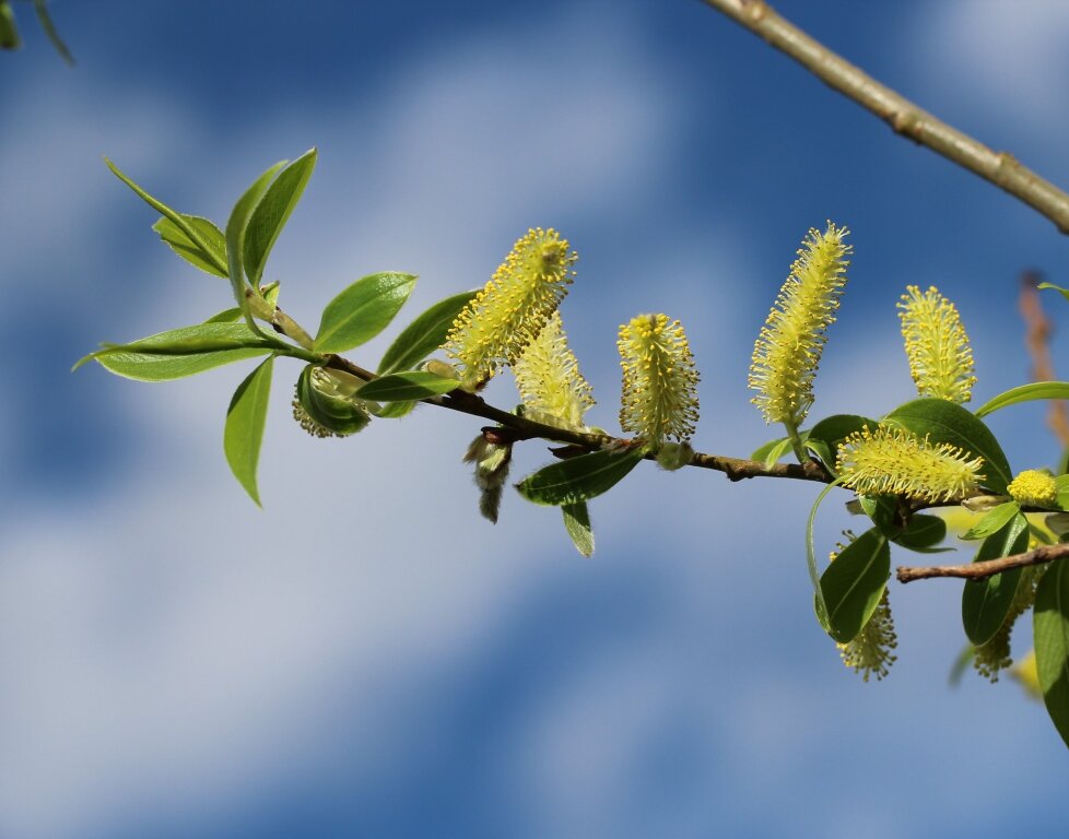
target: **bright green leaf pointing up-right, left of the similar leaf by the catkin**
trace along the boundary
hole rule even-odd
[[[322,310],[316,352],[343,353],[371,341],[393,320],[414,286],[413,274],[393,271],[357,280]]]

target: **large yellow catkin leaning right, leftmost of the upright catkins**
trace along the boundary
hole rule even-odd
[[[484,385],[538,338],[575,277],[577,257],[568,248],[553,228],[528,231],[457,316],[444,348],[466,390]]]

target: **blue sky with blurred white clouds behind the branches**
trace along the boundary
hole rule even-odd
[[[1069,184],[1064,3],[777,8]],[[496,527],[478,517],[466,417],[313,440],[289,420],[297,367],[280,363],[260,511],[220,445],[245,365],[160,386],[69,374],[98,341],[227,305],[225,283],[158,244],[105,154],[221,221],[269,164],[318,146],[267,271],[310,327],[363,274],[419,273],[415,312],[555,226],[580,255],[563,315],[592,422],[615,427],[618,324],[665,311],[703,373],[695,445],[737,456],[774,434],[747,368],[809,227],[846,224],[856,248],[820,416],[911,397],[907,284],[958,303],[978,400],[1024,381],[1018,275],[1069,283],[1053,225],[694,0],[52,9],[74,69],[22,4],[26,47],[0,56],[0,836],[1065,823],[1066,752],[1043,709],[1008,681],[947,687],[958,584],[893,584],[891,676],[842,667],[804,571],[811,486],[644,469],[592,506],[583,560],[552,510],[510,496]],[[507,380],[490,397],[515,400]],[[1015,469],[1056,458],[1041,407],[992,426]],[[514,474],[545,460],[530,445]],[[829,504],[820,524],[830,546],[851,522]]]

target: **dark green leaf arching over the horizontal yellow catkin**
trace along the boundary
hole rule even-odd
[[[959,404],[945,399],[915,399],[898,405],[884,422],[903,428],[929,442],[947,442],[973,457],[984,459],[984,486],[1005,494],[1013,480],[1010,464],[995,435],[979,420]]]

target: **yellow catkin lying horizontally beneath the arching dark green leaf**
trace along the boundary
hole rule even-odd
[[[930,444],[897,426],[868,426],[838,448],[843,485],[861,495],[902,495],[923,501],[974,495],[984,476],[983,458],[970,458],[945,442]]]

